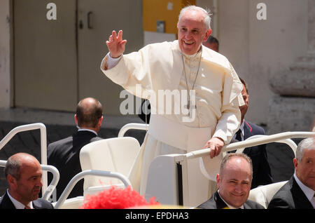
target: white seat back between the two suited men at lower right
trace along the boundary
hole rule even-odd
[[[268,207],[269,202],[272,200],[274,194],[286,184],[288,181],[276,182],[274,184],[267,184],[260,187],[251,189],[249,192],[248,200],[256,201],[265,208]]]

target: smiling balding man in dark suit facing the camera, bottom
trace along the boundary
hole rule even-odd
[[[246,154],[227,154],[216,175],[218,190],[197,208],[204,209],[264,209],[255,201],[249,201],[253,169]]]

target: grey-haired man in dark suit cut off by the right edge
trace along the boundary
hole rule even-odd
[[[314,209],[315,208],[315,137],[302,140],[293,158],[295,173],[279,189],[268,209]]]

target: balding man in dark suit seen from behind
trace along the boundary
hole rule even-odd
[[[48,145],[48,165],[54,165],[60,173],[60,180],[56,187],[57,199],[72,177],[82,171],[80,149],[90,142],[102,140],[101,137],[97,137],[103,121],[102,104],[92,97],[80,100],[74,120],[78,126],[75,134]],[[52,176],[48,175],[48,182],[51,179]],[[83,182],[80,180],[73,187],[68,198],[83,196]]]

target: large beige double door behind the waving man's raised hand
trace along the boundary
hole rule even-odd
[[[124,30],[123,37],[128,40],[126,53],[143,46],[142,1],[55,0],[56,20],[46,18],[50,0],[11,2],[11,52],[14,50],[15,55],[15,79],[11,82],[15,89],[8,92],[14,95],[13,105],[73,112],[78,100],[95,97],[106,106],[105,114],[119,115],[123,100],[119,93],[123,89],[106,78],[99,65],[108,51],[105,41],[113,29]],[[120,20],[112,20],[118,15],[118,8]],[[87,27],[87,15],[92,27]],[[1,43],[9,46],[4,40]]]

